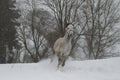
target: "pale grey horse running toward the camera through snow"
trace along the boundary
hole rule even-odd
[[[71,52],[72,43],[71,40],[74,34],[73,24],[69,24],[65,29],[65,35],[61,38],[58,38],[53,46],[54,53],[58,57],[58,68],[64,67],[67,58]]]

